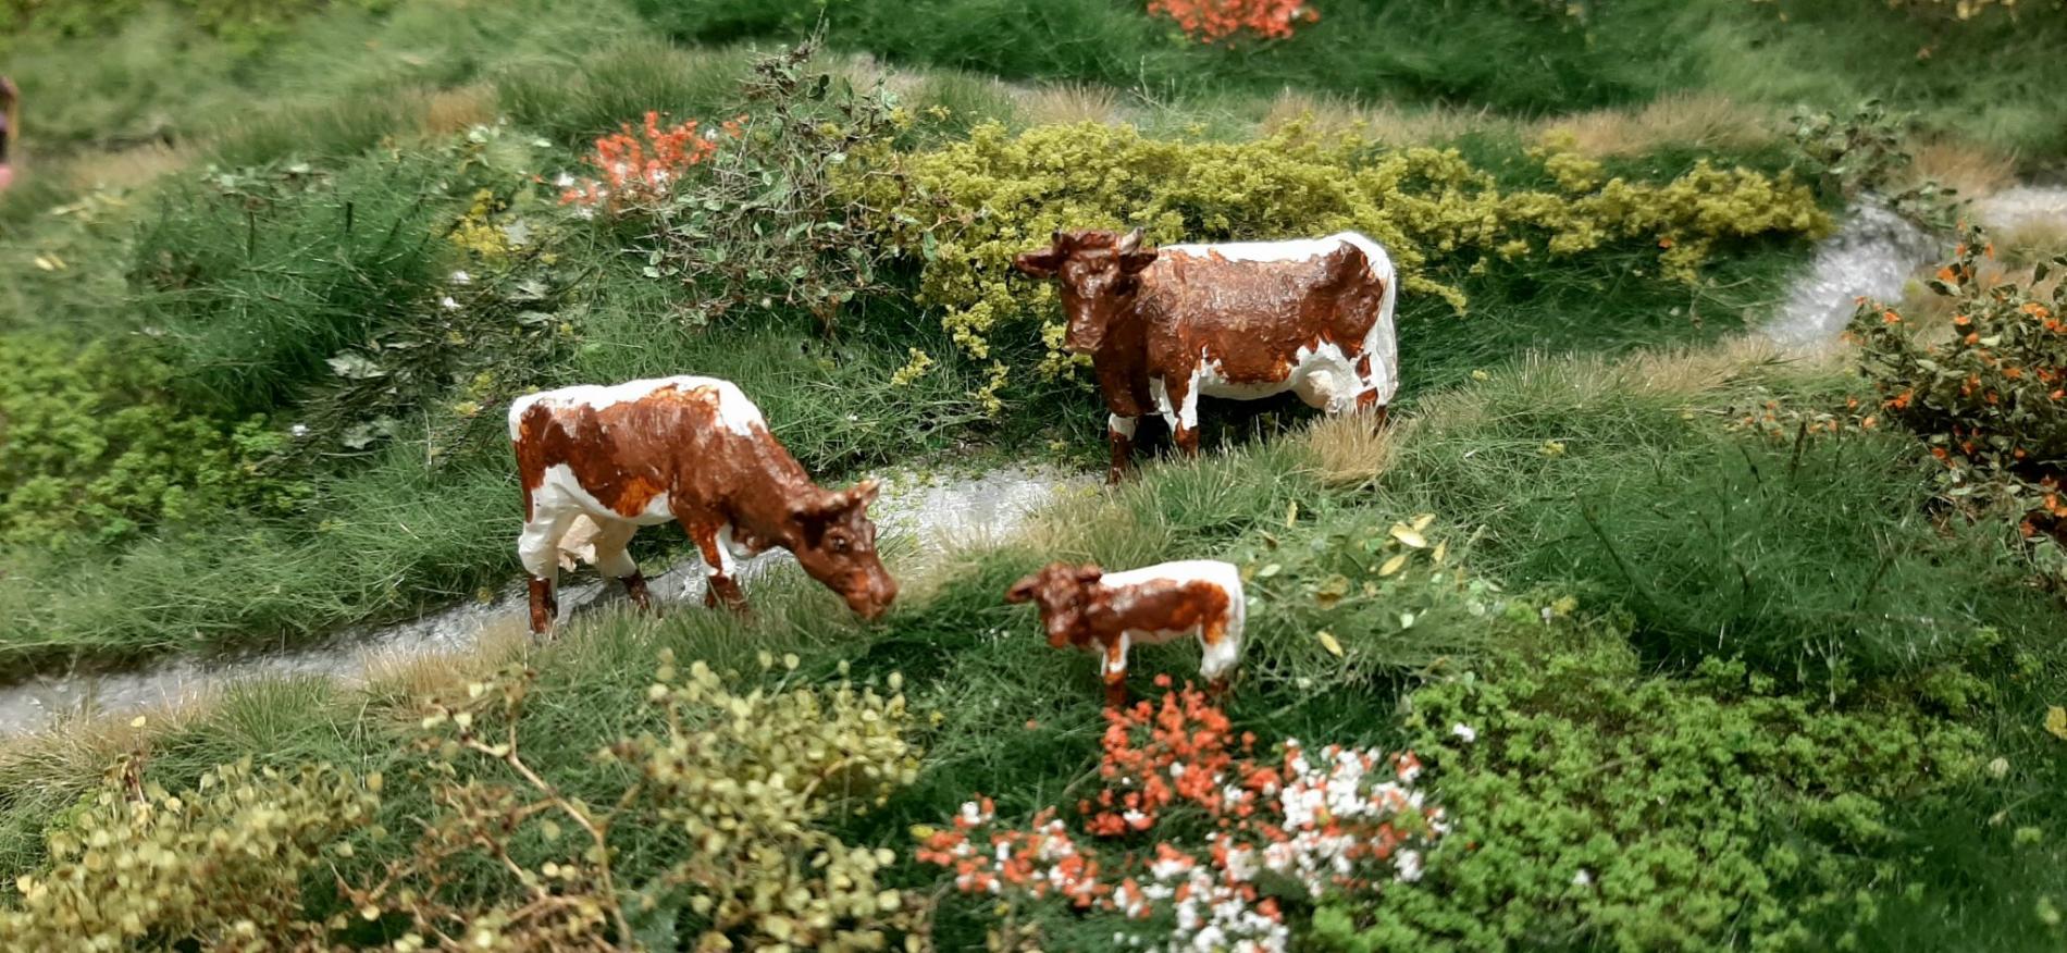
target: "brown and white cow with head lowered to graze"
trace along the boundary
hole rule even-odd
[[[595,566],[622,579],[641,608],[649,604],[645,579],[624,546],[641,525],[668,521],[682,523],[703,554],[705,606],[744,608],[734,558],[775,546],[864,618],[897,597],[868,521],[876,484],[839,492],[812,484],[730,380],[672,376],[533,393],[511,405],[511,442],[523,478],[517,554],[531,573],[533,633],[558,616],[560,537],[583,517],[597,525]]]

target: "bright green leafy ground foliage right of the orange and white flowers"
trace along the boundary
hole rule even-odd
[[[1408,697],[1453,831],[1428,889],[1323,908],[1321,949],[1794,949],[1821,910],[1871,922],[1850,885],[1922,862],[1900,804],[1976,777],[1986,750],[1742,664],[1658,678],[1612,631],[1507,651]]]

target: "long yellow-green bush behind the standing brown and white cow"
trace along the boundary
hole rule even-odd
[[[1019,134],[986,124],[963,143],[907,155],[901,182],[854,188],[876,209],[872,227],[924,260],[920,300],[947,310],[943,320],[969,356],[990,358],[994,335],[1044,316],[1048,374],[1067,366],[1054,289],[1017,279],[1011,258],[1054,229],[1139,225],[1149,242],[1356,229],[1391,252],[1403,294],[1437,296],[1461,312],[1463,291],[1437,281],[1430,265],[1643,242],[1662,248],[1666,273],[1691,281],[1722,240],[1829,225],[1811,190],[1786,174],[1703,161],[1652,184],[1610,178],[1556,149],[1538,159],[1550,190],[1503,190],[1453,149],[1379,149],[1354,134],[1313,136],[1300,124],[1251,143],[1149,139],[1091,122]]]

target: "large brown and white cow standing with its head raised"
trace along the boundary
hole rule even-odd
[[[1294,391],[1327,413],[1383,420],[1399,389],[1393,263],[1356,232],[1162,248],[1141,248],[1141,229],[1056,232],[1013,265],[1062,285],[1062,347],[1091,356],[1110,411],[1112,482],[1151,409],[1197,455],[1201,395]]]

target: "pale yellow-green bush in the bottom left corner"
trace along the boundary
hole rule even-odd
[[[302,874],[370,823],[368,783],[327,769],[219,767],[200,788],[114,781],[45,837],[50,866],[23,874],[0,905],[4,949],[130,949],[198,943],[267,951],[314,943],[329,926],[302,916]],[[314,949],[314,947],[310,947]]]

